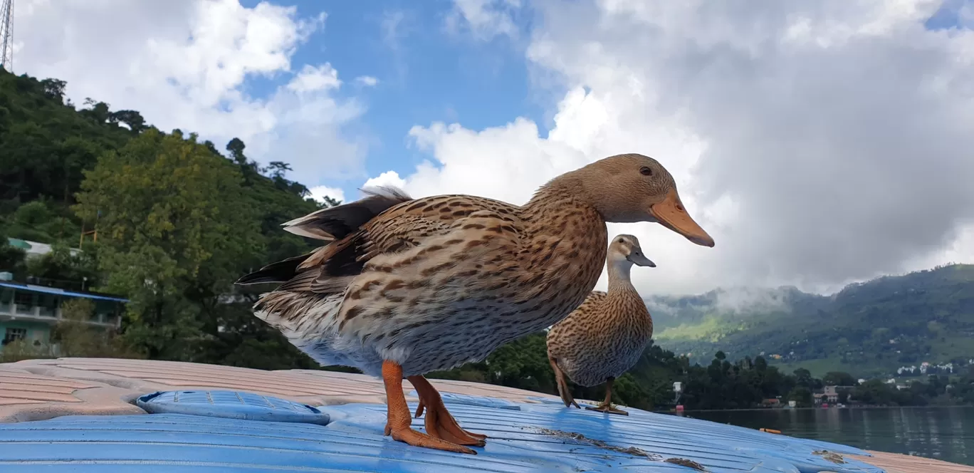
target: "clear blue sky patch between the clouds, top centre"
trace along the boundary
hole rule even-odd
[[[253,7],[259,2],[242,3]],[[523,116],[546,133],[545,104],[531,91],[522,47],[506,36],[480,41],[449,32],[445,19],[452,2],[298,0],[293,5],[301,19],[313,19],[322,11],[327,19],[292,56],[291,71],[304,64],[329,62],[343,82],[339,95],[354,97],[367,108],[353,125],[355,132],[367,137],[366,177],[390,170],[407,176],[417,164],[430,159],[410,145],[408,133],[416,125],[461,123],[481,130]],[[528,23],[518,27],[527,31]],[[366,77],[376,83],[356,81]],[[248,76],[244,92],[264,98],[290,78],[286,74]],[[342,188],[354,198],[366,177],[295,178],[309,186]]]

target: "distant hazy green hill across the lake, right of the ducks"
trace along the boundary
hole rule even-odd
[[[868,376],[974,358],[971,264],[885,276],[833,296],[737,289],[651,297],[647,304],[656,342],[702,362],[717,350],[732,359],[764,352],[772,364],[812,374]]]

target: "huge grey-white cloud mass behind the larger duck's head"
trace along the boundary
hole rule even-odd
[[[474,4],[455,2],[489,39],[476,28],[493,20]],[[654,156],[717,245],[610,225],[636,234],[658,264],[633,271],[647,295],[828,291],[971,261],[974,31],[924,29],[939,5],[540,2],[527,59],[563,81],[553,129],[544,137],[523,118],[480,132],[415,127],[432,160],[405,188],[523,203],[584,163]]]

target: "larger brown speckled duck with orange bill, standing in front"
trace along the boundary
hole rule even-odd
[[[602,159],[544,184],[523,206],[468,195],[411,199],[390,189],[286,222],[328,241],[238,284],[283,283],[255,315],[321,365],[355,367],[386,384],[386,434],[460,453],[486,436],[460,427],[423,374],[483,360],[567,316],[595,286],[606,221],[657,221],[698,245],[673,177],[639,154]],[[428,410],[410,428],[408,379]]]

